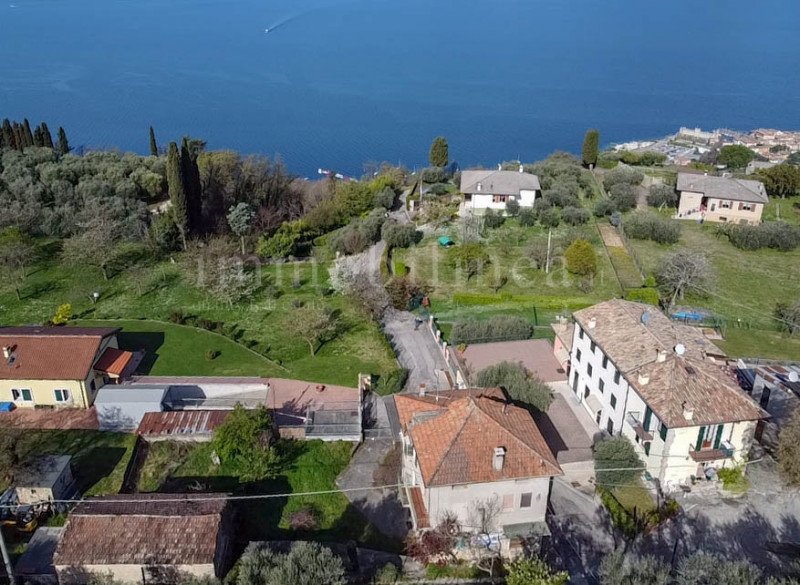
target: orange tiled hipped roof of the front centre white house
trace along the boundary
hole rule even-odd
[[[426,486],[561,475],[530,413],[507,402],[499,389],[464,392],[440,404],[407,395],[395,402],[401,423],[411,415],[403,424]],[[500,470],[493,466],[497,447],[505,448]]]

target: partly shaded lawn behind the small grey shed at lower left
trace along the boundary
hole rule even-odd
[[[82,493],[115,494],[122,487],[135,441],[134,435],[125,433],[25,430],[17,452],[23,465],[41,455],[72,455],[73,476]]]

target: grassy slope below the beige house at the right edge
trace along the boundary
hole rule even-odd
[[[710,294],[678,302],[711,309],[727,321],[728,339],[720,346],[731,356],[800,359],[798,344],[785,339],[772,318],[776,303],[800,299],[800,249],[744,251],[718,235],[713,224],[681,226],[676,245],[630,240],[645,270],[654,272],[665,254],[681,247],[705,252],[713,268]]]

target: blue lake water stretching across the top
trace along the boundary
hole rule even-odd
[[[289,168],[492,165],[681,125],[800,127],[797,0],[2,0],[0,117]],[[264,29],[273,30],[265,34]]]

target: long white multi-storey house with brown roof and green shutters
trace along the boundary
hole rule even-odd
[[[666,491],[747,456],[762,410],[702,330],[621,299],[574,315],[569,383],[609,434],[637,447]]]

